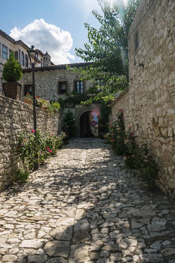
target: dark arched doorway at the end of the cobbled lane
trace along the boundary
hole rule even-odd
[[[98,137],[99,122],[95,111],[86,111],[80,117],[80,137]]]

